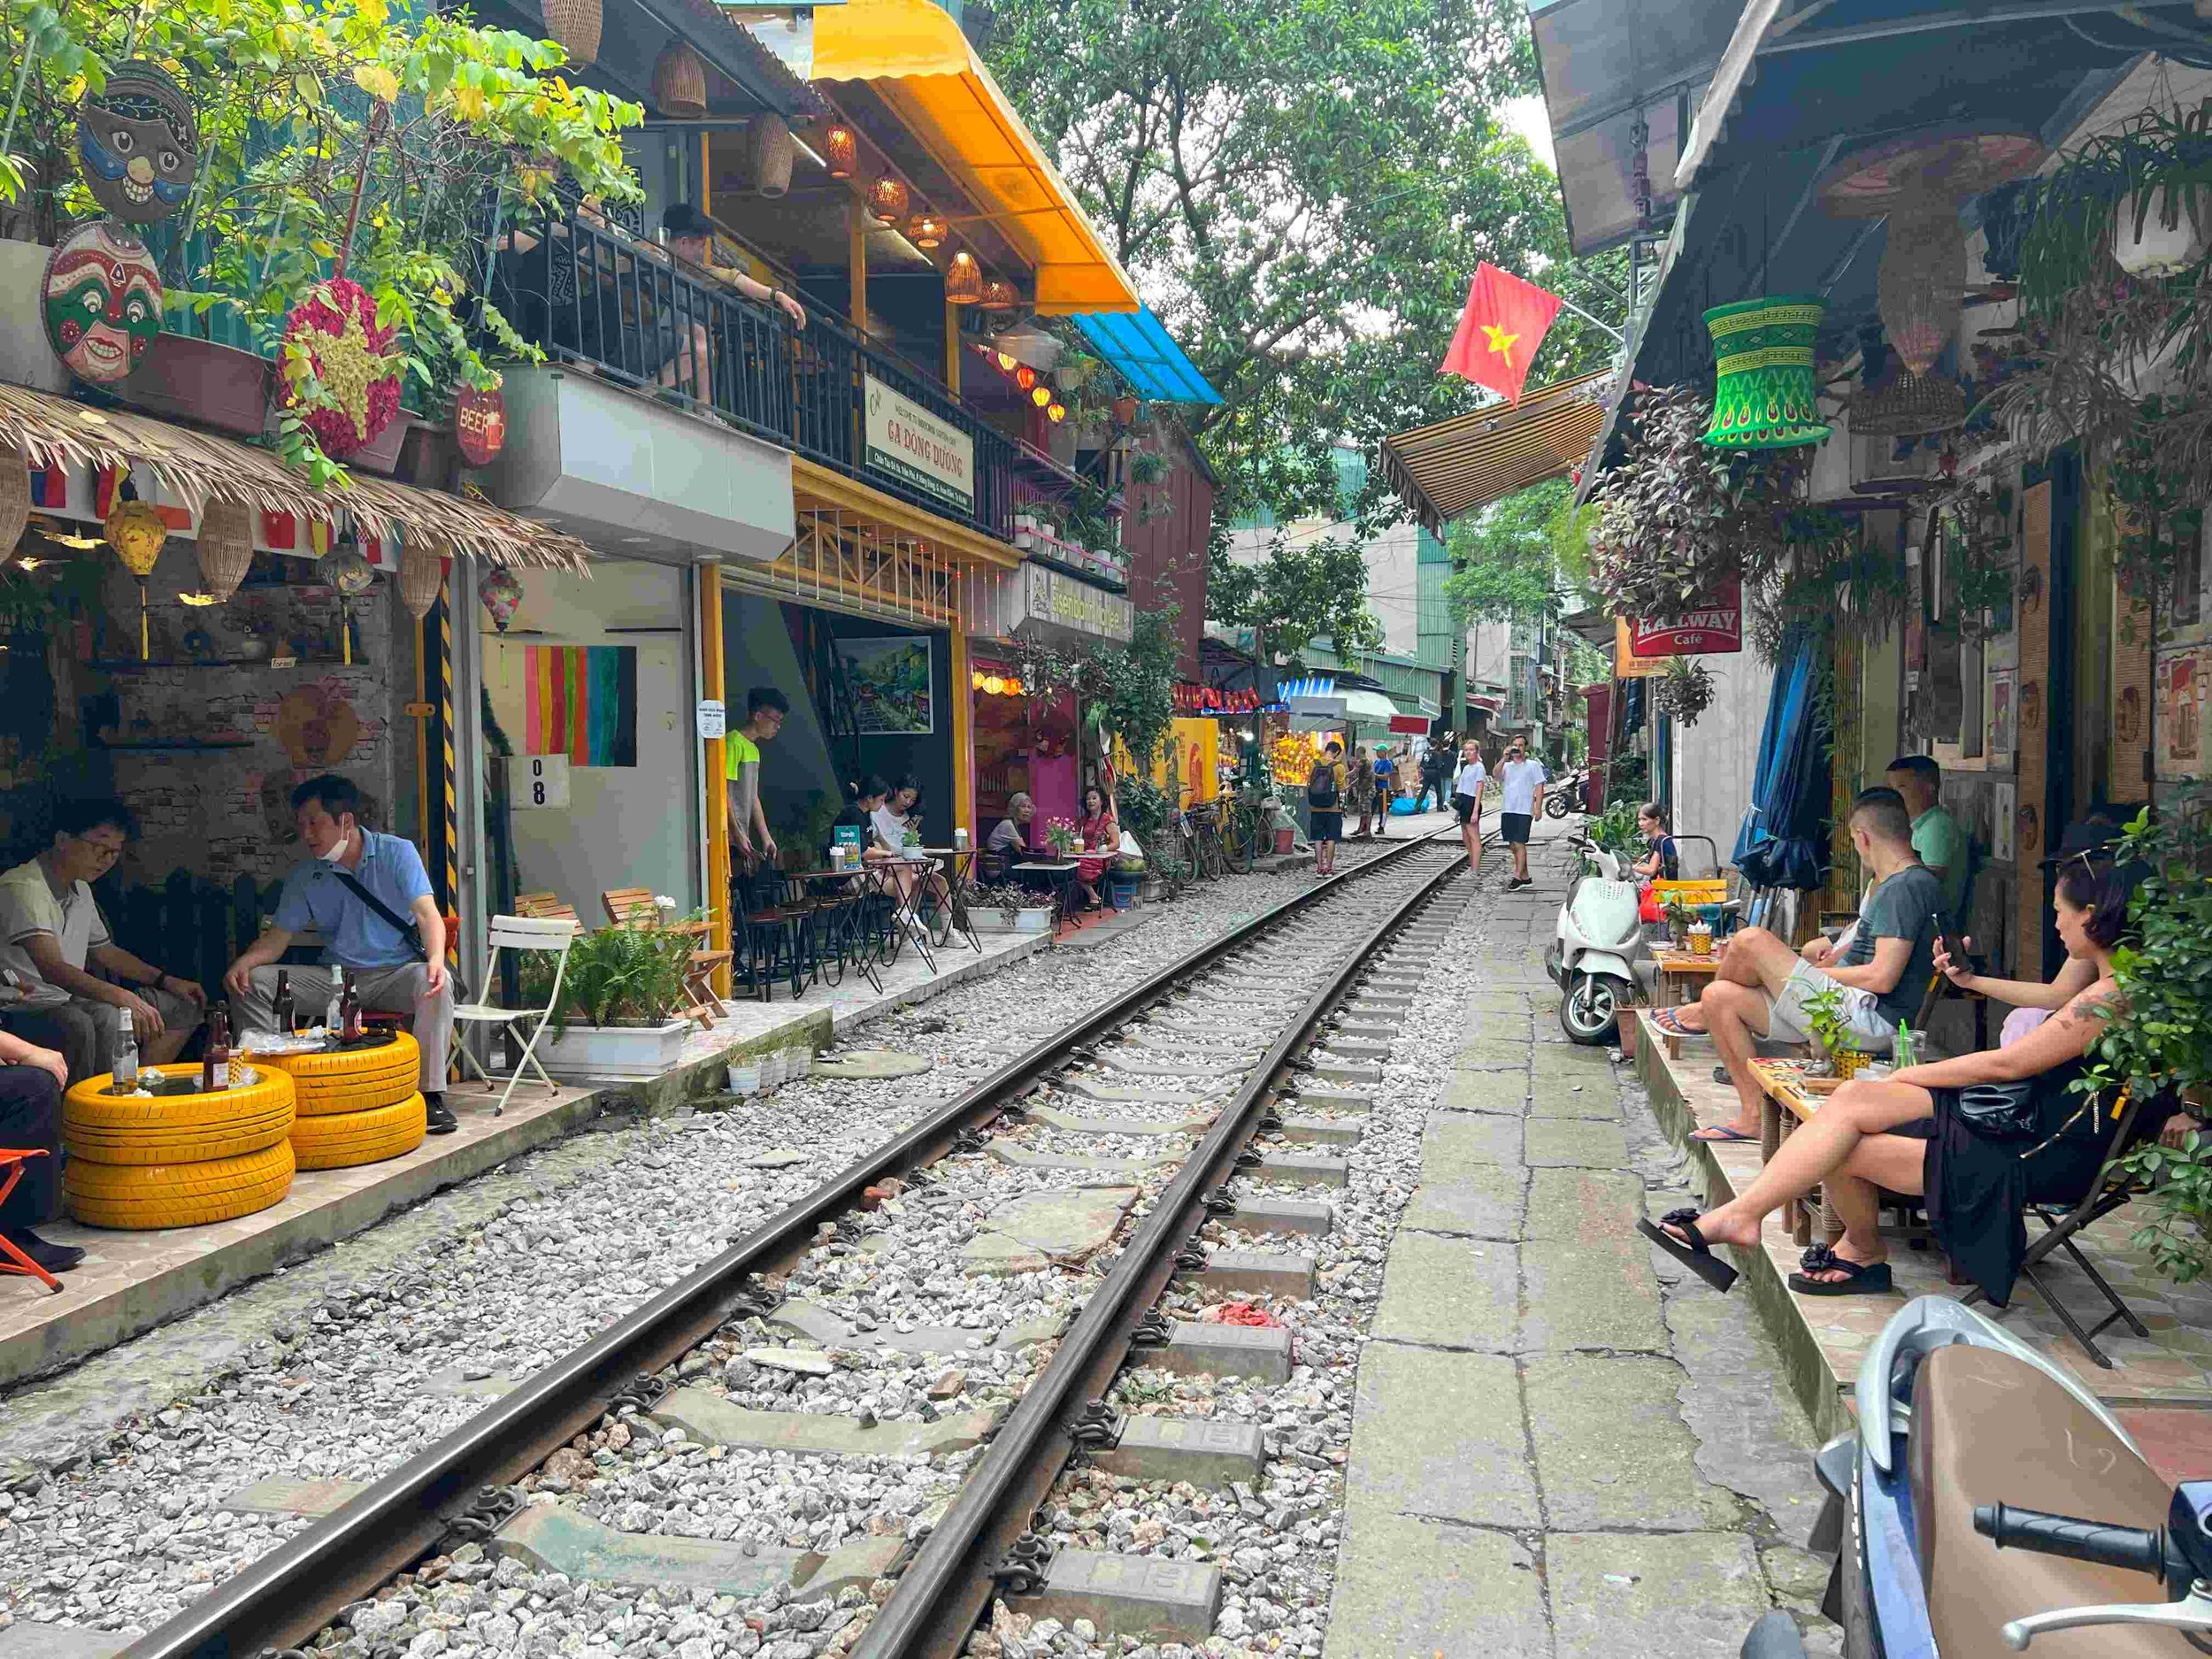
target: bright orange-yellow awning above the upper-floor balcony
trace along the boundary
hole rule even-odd
[[[865,80],[1035,270],[1037,310],[1133,312],[1137,288],[933,0],[814,11],[814,80]]]

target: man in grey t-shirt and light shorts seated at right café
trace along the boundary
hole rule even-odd
[[[1752,1075],[1759,1037],[1812,1042],[1807,1000],[1840,991],[1845,1037],[1865,1053],[1889,1053],[1936,975],[1936,914],[1942,883],[1913,852],[1913,821],[1896,790],[1867,790],[1851,807],[1851,845],[1869,876],[1858,920],[1834,945],[1816,938],[1792,951],[1763,927],[1730,942],[1712,984],[1681,1022],[1710,1031],[1736,1086],[1736,1117],[1690,1139],[1745,1141],[1759,1135],[1761,1088]]]

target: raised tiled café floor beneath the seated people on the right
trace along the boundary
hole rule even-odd
[[[1674,1093],[1690,1106],[1699,1124],[1721,1124],[1734,1117],[1734,1091],[1712,1079],[1714,1053],[1710,1044],[1690,1046],[1681,1060],[1666,1060],[1663,1051],[1650,1042],[1650,1026],[1644,1029],[1639,1064],[1666,1066]],[[1655,1088],[1655,1095],[1661,1093]],[[1701,1159],[1719,1170],[1730,1190],[1743,1190],[1759,1175],[1756,1144],[1723,1144],[1699,1148]],[[2079,1234],[2086,1254],[2112,1287],[2128,1298],[2128,1305],[2150,1327],[2150,1336],[2135,1336],[2126,1325],[2110,1325],[2097,1336],[2097,1345],[2112,1360],[2112,1369],[2099,1367],[2044,1298],[2024,1279],[2013,1292],[2011,1312],[2002,1316],[2006,1329],[2028,1336],[2059,1365],[2073,1371],[2093,1394],[2110,1402],[2166,1405],[2166,1407],[2212,1407],[2212,1283],[2177,1285],[2163,1279],[2148,1252],[2135,1250],[2128,1234],[2143,1225],[2146,1210],[2126,1206],[2106,1217],[2095,1228]],[[2031,1221],[2028,1237],[2039,1228]],[[1889,1270],[1898,1290],[1891,1296],[1796,1296],[1781,1285],[1781,1279],[1796,1272],[1798,1245],[1790,1239],[1781,1214],[1767,1219],[1765,1256],[1776,1274],[1776,1290],[1787,1298],[1794,1318],[1818,1345],[1829,1383],[1849,1387],[1858,1376],[1858,1360],[1880,1334],[1889,1316],[1911,1296],[1964,1296],[1966,1292],[1947,1281],[1944,1256],[1936,1250],[1911,1250],[1902,1243],[1891,1248]],[[2095,1325],[2108,1312],[2095,1285],[2066,1261],[2064,1252],[2048,1259],[2044,1272],[2051,1287],[2066,1298],[2084,1325]],[[1984,1307],[1986,1312],[1986,1307]],[[2208,1436],[2212,1447],[2212,1436]]]

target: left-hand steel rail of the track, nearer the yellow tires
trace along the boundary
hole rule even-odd
[[[500,1396],[281,1548],[148,1630],[124,1648],[122,1659],[246,1659],[299,1646],[341,1608],[365,1599],[438,1544],[484,1486],[529,1473],[606,1416],[613,1398],[639,1376],[672,1365],[706,1340],[745,1298],[757,1274],[810,1250],[816,1225],[856,1208],[865,1188],[936,1161],[953,1137],[1029,1093],[1073,1048],[1126,1022],[1276,922],[1332,896],[1340,883],[1380,874],[1438,841],[1442,834],[1409,838],[1356,869],[1338,872],[1062,1026]]]

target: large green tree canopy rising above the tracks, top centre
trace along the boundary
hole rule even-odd
[[[1599,314],[1557,186],[1504,131],[1535,91],[1517,0],[995,0],[991,64],[1225,403],[1192,418],[1219,511],[1334,513],[1332,445],[1475,403],[1436,365],[1489,259]],[[1537,380],[1610,343],[1562,314]],[[1380,478],[1360,531],[1396,518]]]

